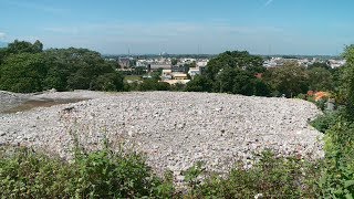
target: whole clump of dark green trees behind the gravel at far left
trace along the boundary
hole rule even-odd
[[[0,90],[30,93],[56,88],[123,91],[118,64],[103,60],[86,49],[42,51],[33,44],[14,41],[0,51]]]

